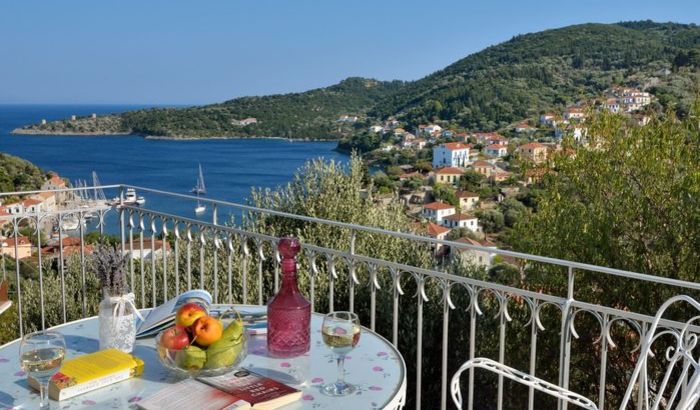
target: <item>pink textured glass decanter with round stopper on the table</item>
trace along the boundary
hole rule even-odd
[[[267,352],[275,357],[294,357],[309,351],[311,303],[297,286],[299,240],[286,236],[277,249],[282,257],[282,287],[267,303]]]

